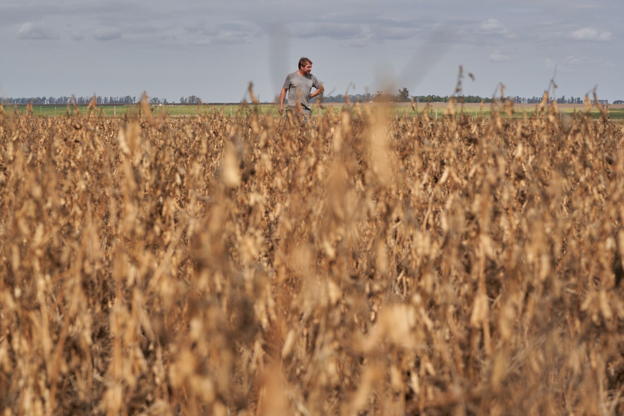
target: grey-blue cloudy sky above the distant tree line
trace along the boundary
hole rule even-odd
[[[0,0],[0,96],[273,100],[301,56],[326,94],[407,87],[624,99],[622,0]]]

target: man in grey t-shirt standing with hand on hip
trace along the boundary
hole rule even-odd
[[[316,95],[323,94],[325,90],[321,82],[312,72],[312,61],[306,57],[301,57],[299,60],[299,69],[295,72],[291,72],[286,75],[286,80],[281,88],[280,92],[280,114],[284,114],[284,99],[286,98],[286,91],[288,91],[288,108],[286,114],[295,114],[295,105],[297,101],[301,104],[301,110],[305,114],[303,122],[308,121],[310,116],[310,99],[316,97]],[[316,88],[312,94],[312,87]]]

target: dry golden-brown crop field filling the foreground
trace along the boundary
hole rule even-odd
[[[621,123],[0,110],[2,415],[624,412]]]

